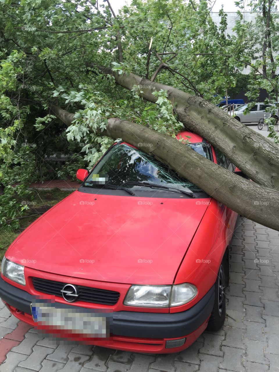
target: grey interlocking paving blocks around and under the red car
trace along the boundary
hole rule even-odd
[[[169,355],[56,345],[0,303],[0,372],[279,371],[279,234],[246,218],[237,225],[227,317],[220,331],[204,332],[189,349]]]

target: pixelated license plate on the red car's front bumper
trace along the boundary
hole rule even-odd
[[[87,337],[110,337],[112,313],[94,309],[57,308],[53,302],[32,302],[31,311],[35,323],[55,329],[83,334]]]

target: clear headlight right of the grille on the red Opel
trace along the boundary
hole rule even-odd
[[[173,307],[187,304],[198,294],[193,284],[132,285],[124,305],[140,307]]]

